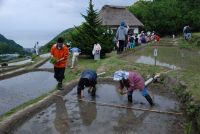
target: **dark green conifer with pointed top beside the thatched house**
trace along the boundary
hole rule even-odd
[[[72,46],[80,48],[82,54],[92,55],[94,43],[97,41],[102,47],[101,55],[111,52],[114,46],[114,35],[110,27],[101,27],[102,20],[99,19],[97,10],[94,10],[92,0],[89,2],[87,15],[81,15],[86,22],[79,27],[75,26],[76,32],[69,31]]]

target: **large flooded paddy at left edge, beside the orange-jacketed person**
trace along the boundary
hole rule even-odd
[[[49,72],[30,72],[0,81],[0,115],[53,90],[56,84]]]

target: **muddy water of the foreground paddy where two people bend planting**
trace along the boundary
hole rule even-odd
[[[147,87],[148,93],[156,103],[150,107],[139,91],[133,93],[133,103],[127,101],[126,95],[118,93],[118,84],[98,84],[96,96],[88,94],[85,88],[85,100],[92,100],[116,105],[154,110],[179,111],[179,103],[172,97]],[[76,94],[77,87],[66,97],[80,98]],[[51,107],[44,109],[32,119],[15,130],[15,134],[43,133],[43,134],[166,134],[171,129],[171,123],[179,121],[180,117],[159,114],[148,111],[138,111],[117,108],[101,104],[94,104],[57,97]]]

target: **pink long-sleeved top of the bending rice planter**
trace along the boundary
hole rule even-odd
[[[122,81],[119,81],[119,89],[123,89],[124,86],[127,87],[128,91],[133,91],[136,89],[144,91],[145,87],[145,81],[143,77],[135,72],[129,72],[129,76],[127,78],[128,84],[123,83]]]

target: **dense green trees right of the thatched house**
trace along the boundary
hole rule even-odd
[[[200,31],[200,0],[139,0],[127,9],[143,24],[144,31],[160,35],[180,33],[185,24]]]

